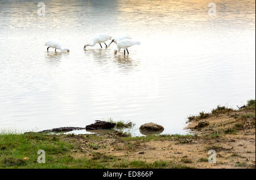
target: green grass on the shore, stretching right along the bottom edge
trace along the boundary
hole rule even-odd
[[[121,158],[105,155],[104,153],[93,152],[98,148],[97,144],[90,143],[92,148],[90,156],[75,158],[73,152],[79,151],[75,144],[65,142],[63,139],[71,138],[71,135],[47,135],[31,132],[29,134],[0,134],[0,168],[192,168],[181,164],[174,164],[169,161],[127,161]],[[79,138],[97,138],[92,135],[79,135],[72,140]],[[188,137],[173,135],[172,137]],[[166,137],[161,137],[166,138]],[[122,139],[122,138],[121,138]],[[71,142],[72,142],[71,140]],[[139,145],[138,139],[128,142],[127,149],[135,149]],[[37,162],[38,150],[46,152],[46,163]],[[28,157],[29,160],[23,160]]]

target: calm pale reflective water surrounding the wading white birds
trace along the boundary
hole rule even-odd
[[[46,16],[38,16],[38,3]],[[0,1],[0,128],[44,130],[96,119],[163,125],[255,98],[255,1]],[[84,52],[97,33],[141,42]],[[70,52],[47,53],[59,40]],[[109,43],[109,42],[108,42]],[[138,131],[134,131],[138,133]]]

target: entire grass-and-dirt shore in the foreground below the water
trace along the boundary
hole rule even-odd
[[[188,117],[192,135],[0,134],[0,168],[255,168],[255,100]],[[37,162],[38,150],[46,163]],[[208,151],[216,163],[208,162]]]

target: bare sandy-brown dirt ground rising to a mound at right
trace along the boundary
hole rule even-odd
[[[200,122],[208,122],[198,127]],[[255,168],[255,109],[224,110],[196,117],[185,128],[193,135],[130,138],[86,135],[65,137],[75,143],[73,157],[93,157],[93,153],[122,160],[168,161],[188,168]],[[208,162],[208,151],[216,151],[216,163]]]

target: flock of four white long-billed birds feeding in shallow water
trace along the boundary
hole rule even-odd
[[[95,46],[96,44],[100,44],[101,48],[102,45],[101,43],[104,43],[106,46],[106,49],[112,44],[112,42],[114,42],[117,45],[117,48],[114,49],[114,54],[117,54],[117,52],[120,52],[121,49],[123,49],[123,53],[125,54],[125,51],[127,51],[127,53],[129,54],[128,48],[133,46],[133,45],[140,45],[141,42],[139,41],[135,41],[132,40],[129,36],[119,36],[117,38],[113,38],[113,40],[110,42],[109,45],[106,45],[106,41],[111,40],[112,36],[109,36],[108,34],[105,33],[101,33],[97,36],[95,36],[93,38],[92,42],[88,42],[84,45],[84,50],[86,50],[87,46]],[[69,52],[68,48],[65,48],[63,46],[61,46],[61,44],[57,41],[47,41],[46,46],[48,46],[47,48],[47,52],[49,52],[49,48],[54,48],[55,52],[57,49],[61,50],[61,51],[67,51]]]

